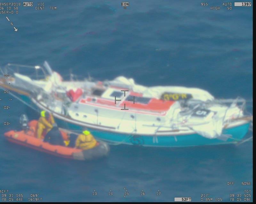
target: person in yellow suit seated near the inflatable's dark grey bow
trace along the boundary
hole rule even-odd
[[[97,141],[94,139],[90,131],[84,130],[83,134],[78,135],[76,138],[76,148],[79,149],[92,149],[97,144]]]

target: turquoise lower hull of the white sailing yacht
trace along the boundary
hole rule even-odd
[[[20,96],[25,102],[38,109],[32,104],[30,98],[26,96]],[[34,111],[33,109],[29,109]],[[31,113],[30,113],[31,114]],[[38,113],[36,113],[38,114]],[[39,116],[38,116],[39,117]],[[29,119],[31,119],[29,117]],[[243,139],[247,134],[250,123],[243,124],[234,128],[223,130],[223,134],[232,135],[227,141],[219,139],[207,139],[198,134],[192,135],[177,135],[177,136],[147,136],[147,135],[129,135],[129,134],[118,134],[113,132],[99,131],[90,128],[84,128],[72,123],[65,122],[63,120],[55,118],[56,123],[60,128],[69,129],[71,131],[81,133],[84,129],[88,129],[92,132],[95,138],[109,142],[110,144],[131,144],[131,145],[142,145],[142,146],[155,146],[155,147],[189,147],[199,145],[214,145],[214,144],[228,144],[236,143]]]

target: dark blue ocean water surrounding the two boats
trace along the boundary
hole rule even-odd
[[[121,1],[40,2],[44,11],[20,6],[17,15],[0,14],[0,66],[47,60],[62,76],[70,69],[99,80],[123,75],[148,86],[199,87],[216,98],[252,100],[252,7],[227,10],[224,0],[208,6],[130,0],[126,10]],[[230,201],[230,193],[252,190],[241,185],[252,181],[252,141],[177,149],[117,145],[107,158],[70,161],[5,141],[4,132],[17,128],[26,107],[0,96],[0,189],[23,193],[25,201],[31,193],[43,201],[200,201],[201,193]],[[5,104],[10,110],[2,109]],[[252,113],[252,103],[247,109]],[[9,127],[2,125],[7,120]]]

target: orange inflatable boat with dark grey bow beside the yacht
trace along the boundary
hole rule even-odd
[[[13,142],[25,147],[36,149],[38,151],[46,152],[58,157],[64,157],[77,160],[91,160],[98,157],[103,157],[108,154],[109,146],[105,142],[97,142],[97,145],[92,149],[82,150],[73,147],[65,147],[60,145],[52,145],[36,138],[37,121],[32,120],[28,123],[29,129],[27,131],[11,130],[4,134],[9,142]],[[68,133],[60,131],[64,141],[68,140]]]

